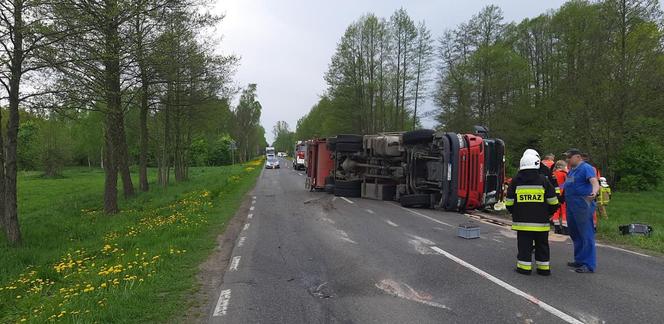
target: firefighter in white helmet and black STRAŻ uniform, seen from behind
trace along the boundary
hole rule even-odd
[[[549,218],[558,208],[558,197],[550,181],[539,172],[539,158],[524,156],[520,164],[505,199],[512,213],[512,229],[517,231],[516,271],[531,273],[534,242],[537,273],[550,275]]]

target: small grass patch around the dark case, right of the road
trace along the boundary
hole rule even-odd
[[[616,192],[607,206],[609,219],[600,219],[599,239],[620,245],[664,253],[664,189],[650,192]],[[654,227],[649,237],[623,236],[618,226],[629,223],[645,223]]]

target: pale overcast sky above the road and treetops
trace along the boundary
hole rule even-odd
[[[216,13],[225,13],[217,33],[222,53],[241,57],[236,82],[258,84],[263,106],[261,123],[268,142],[272,127],[285,120],[295,130],[325,92],[323,75],[346,27],[366,13],[389,17],[403,7],[414,21],[426,21],[434,38],[455,28],[488,4],[502,8],[506,21],[520,21],[562,0],[218,0]],[[430,100],[425,110],[433,109]],[[424,120],[425,126],[433,121]]]

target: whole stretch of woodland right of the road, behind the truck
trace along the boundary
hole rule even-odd
[[[484,125],[507,145],[590,155],[620,190],[655,189],[664,174],[664,18],[657,0],[569,1],[508,22],[494,5],[435,31],[403,10],[348,26],[328,89],[296,139]],[[429,100],[434,109],[422,111]],[[288,134],[283,132],[283,134]]]

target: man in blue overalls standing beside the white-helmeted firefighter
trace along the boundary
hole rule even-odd
[[[595,169],[583,161],[581,151],[570,149],[566,153],[570,171],[565,181],[567,225],[574,243],[574,262],[568,266],[578,273],[593,273],[597,267],[593,214],[599,182]]]

